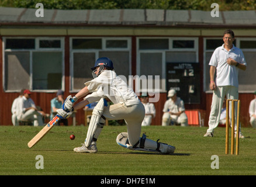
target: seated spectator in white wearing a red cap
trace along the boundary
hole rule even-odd
[[[38,111],[34,101],[30,98],[31,92],[25,89],[22,99],[18,102],[17,119],[32,121],[34,126],[43,126],[43,111]]]

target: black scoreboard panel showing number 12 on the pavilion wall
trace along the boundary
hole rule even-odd
[[[167,63],[167,91],[175,89],[186,104],[200,103],[199,63]]]

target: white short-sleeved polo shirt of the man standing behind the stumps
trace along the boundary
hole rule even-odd
[[[227,59],[233,58],[238,63],[246,64],[243,52],[233,45],[230,51],[223,46],[218,47],[210,59],[209,65],[216,67],[217,86],[236,86],[238,88],[238,68],[227,64]]]

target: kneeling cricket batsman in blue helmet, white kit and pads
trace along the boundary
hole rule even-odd
[[[58,115],[65,119],[72,114],[72,111],[99,101],[92,112],[85,142],[81,147],[74,148],[74,151],[97,153],[96,141],[105,120],[124,119],[127,124],[127,133],[120,133],[117,136],[117,144],[130,150],[174,153],[174,146],[150,140],[145,134],[140,137],[141,123],[145,116],[144,106],[133,89],[116,75],[112,61],[107,57],[98,58],[91,70],[94,79],[85,82],[85,87],[75,96],[68,96],[63,103],[63,109],[57,110]],[[74,105],[82,97],[84,100]],[[113,105],[104,108],[103,98],[109,98]]]

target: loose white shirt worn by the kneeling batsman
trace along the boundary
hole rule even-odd
[[[89,92],[93,92],[85,97],[89,103],[99,101],[99,99],[106,97],[114,104],[124,103],[124,105],[130,106],[140,103],[133,89],[122,78],[117,76],[115,71],[102,71],[99,77],[85,82],[85,85]]]

